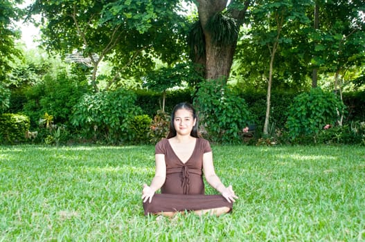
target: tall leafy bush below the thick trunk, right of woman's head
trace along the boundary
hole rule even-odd
[[[222,80],[202,82],[194,100],[202,134],[213,142],[238,144],[242,129],[251,123],[247,104]]]

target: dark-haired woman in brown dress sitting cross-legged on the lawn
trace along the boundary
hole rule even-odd
[[[217,216],[232,210],[235,193],[215,174],[211,146],[199,138],[195,109],[188,103],[175,106],[170,132],[155,147],[156,170],[150,186],[144,184],[145,214],[173,216],[177,212]],[[206,181],[222,195],[204,195]],[[155,194],[161,188],[161,194]]]

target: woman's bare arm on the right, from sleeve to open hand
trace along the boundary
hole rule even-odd
[[[235,196],[235,192],[233,192],[232,186],[229,185],[229,187],[225,187],[217,174],[215,174],[212,152],[204,153],[203,169],[206,181],[218,192],[220,192],[222,196],[224,196],[224,198],[229,201],[229,203],[234,202],[234,198],[238,198],[238,196]]]

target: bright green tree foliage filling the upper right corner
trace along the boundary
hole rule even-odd
[[[306,91],[320,86],[323,75],[332,76],[335,89],[359,80],[365,52],[364,1],[253,2],[257,5],[250,8],[249,26],[240,32],[231,73],[244,82],[243,88],[265,89],[275,43],[273,89]]]

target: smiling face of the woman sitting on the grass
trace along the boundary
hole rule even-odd
[[[196,119],[193,118],[193,113],[186,109],[178,109],[175,112],[174,127],[179,135],[190,135],[193,130]]]

